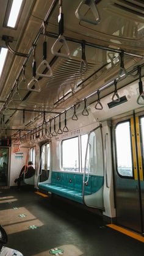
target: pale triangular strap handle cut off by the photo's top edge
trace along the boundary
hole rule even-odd
[[[85,18],[85,16],[82,15],[81,13],[81,9],[83,5],[88,5],[88,7],[90,8],[91,12],[93,13],[93,16],[95,17],[95,20],[88,20],[87,18]],[[79,4],[79,6],[76,9],[75,12],[76,18],[78,20],[81,21],[85,21],[87,23],[93,24],[93,25],[97,25],[99,24],[99,22],[101,21],[101,18],[99,16],[99,12],[98,12],[98,8],[96,6],[96,1],[95,0],[83,0],[81,2],[81,4]]]

